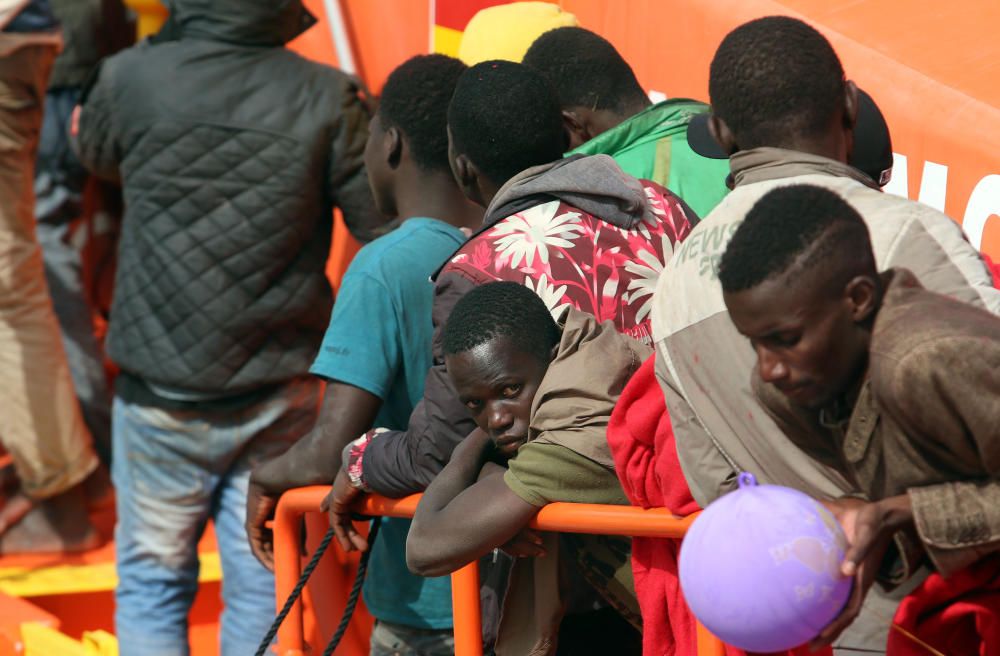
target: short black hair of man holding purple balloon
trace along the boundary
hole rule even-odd
[[[719,263],[728,293],[765,280],[823,267],[823,283],[838,288],[859,272],[874,274],[868,226],[847,201],[822,187],[793,185],[766,193],[750,208]]]

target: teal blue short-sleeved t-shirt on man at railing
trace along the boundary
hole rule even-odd
[[[436,219],[408,219],[362,248],[344,274],[330,326],[310,371],[382,399],[375,426],[404,430],[432,364],[433,274],[465,242]],[[382,520],[372,547],[365,604],[380,620],[424,629],[452,626],[448,577],[406,568],[410,521]]]

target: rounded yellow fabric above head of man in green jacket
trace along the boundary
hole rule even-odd
[[[472,66],[490,59],[520,62],[535,39],[557,27],[579,25],[549,2],[512,2],[481,10],[465,28],[458,58]]]

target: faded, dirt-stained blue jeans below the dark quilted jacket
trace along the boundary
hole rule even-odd
[[[112,410],[117,491],[115,630],[122,656],[187,656],[197,544],[209,518],[222,561],[222,656],[253,654],[274,619],[274,577],[243,523],[250,470],[305,435],[320,383],[297,380],[238,411]]]

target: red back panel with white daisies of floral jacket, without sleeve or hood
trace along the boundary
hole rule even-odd
[[[647,214],[632,230],[552,200],[474,236],[441,275],[457,273],[477,285],[521,283],[545,301],[553,316],[569,305],[651,344],[656,281],[691,224],[676,196],[653,182],[642,184],[653,216]]]

